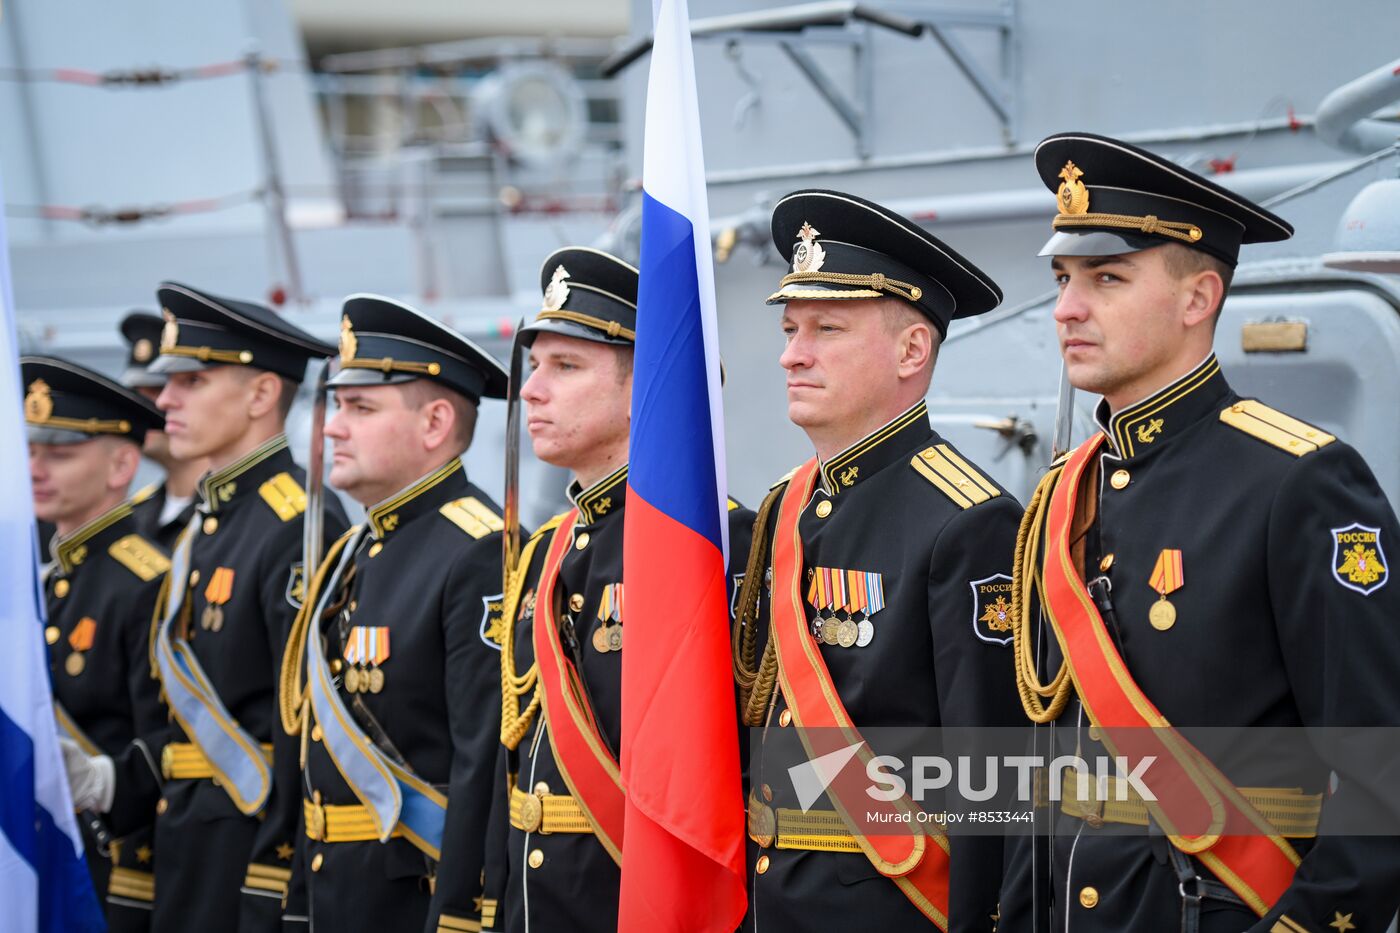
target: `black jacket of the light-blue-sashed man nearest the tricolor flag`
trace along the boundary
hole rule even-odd
[[[447,794],[442,859],[434,864],[402,836],[381,843],[302,835],[298,871],[309,869],[311,926],[480,929],[482,860],[500,745],[500,510],[454,458],[371,507],[365,520],[368,534],[326,602],[339,609],[321,622],[325,654],[351,714],[363,703],[388,738],[381,748],[392,744],[419,778]],[[378,692],[346,689],[346,647],[357,626],[389,630]],[[315,714],[311,721],[307,803],[358,806],[321,741]]]

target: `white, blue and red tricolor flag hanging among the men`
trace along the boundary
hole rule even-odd
[[[655,0],[623,548],[619,930],[734,930],[743,799],[720,346],[690,17]]]

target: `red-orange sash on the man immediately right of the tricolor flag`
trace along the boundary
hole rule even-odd
[[[802,601],[804,556],[798,520],[812,495],[816,476],[815,458],[798,466],[783,493],[773,534],[773,639],[777,644],[783,696],[787,698],[792,721],[811,759],[840,752],[854,744],[861,745],[830,782],[827,797],[871,864],[899,885],[939,930],[946,930],[948,838],[942,834],[932,835],[934,831],[917,820],[918,807],[907,796],[892,801],[875,801],[867,796],[869,780],[865,766],[875,752],[865,744],[841,705],[832,672],[826,668],[808,625]],[[861,832],[864,824],[857,817],[871,813],[882,817],[876,825],[899,829],[865,835]]]

